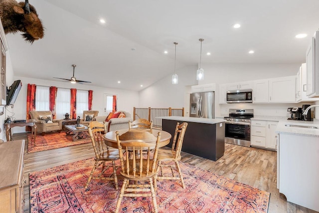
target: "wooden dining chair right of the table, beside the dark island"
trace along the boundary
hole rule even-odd
[[[159,150],[158,168],[157,168],[157,177],[156,177],[157,180],[180,180],[183,189],[185,189],[185,184],[184,184],[183,176],[182,176],[182,173],[180,171],[180,167],[179,167],[178,162],[181,159],[180,152],[181,152],[181,147],[183,144],[184,135],[185,135],[187,125],[188,124],[186,122],[184,122],[182,124],[177,123],[176,128],[175,128],[175,134],[174,134],[171,150],[164,150],[164,149]],[[169,162],[169,161],[174,162],[175,165],[162,164],[162,162]],[[163,171],[162,171],[163,167],[169,167],[170,171],[172,173],[172,176],[169,176],[169,177],[163,176]],[[179,177],[176,177],[174,175],[173,167],[176,168]],[[159,176],[159,172],[161,173],[161,176]],[[157,182],[155,183],[155,188],[157,188]]]

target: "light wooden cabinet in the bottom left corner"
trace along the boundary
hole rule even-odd
[[[24,140],[0,143],[0,212],[23,213]]]

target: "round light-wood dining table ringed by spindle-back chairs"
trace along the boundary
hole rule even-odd
[[[120,136],[123,135],[124,133],[127,133],[129,131],[129,129],[121,129],[121,130],[117,130],[119,131]],[[118,148],[118,142],[116,140],[116,132],[117,131],[112,131],[112,132],[108,132],[106,134],[103,135],[103,139],[105,141],[105,144],[108,145],[109,147],[113,147],[113,148]],[[130,131],[147,131],[151,134],[154,135],[154,139],[153,141],[150,142],[156,142],[157,137],[158,137],[158,133],[160,132],[160,143],[159,143],[159,147],[163,147],[166,146],[167,144],[169,144],[171,135],[168,132],[162,131],[162,130],[158,130],[158,129],[143,129],[143,130],[133,130],[131,129]],[[137,138],[130,138],[129,140],[134,140]]]

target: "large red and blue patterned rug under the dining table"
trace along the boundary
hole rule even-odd
[[[114,183],[92,180],[84,189],[93,164],[93,159],[87,159],[31,173],[30,212],[113,213],[119,196]],[[180,163],[180,167],[185,189],[179,181],[158,181],[159,213],[267,213],[270,193],[190,164]],[[119,180],[119,189],[122,183]],[[151,213],[151,199],[124,197],[120,212]]]

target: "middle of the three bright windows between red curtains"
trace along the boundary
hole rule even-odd
[[[58,88],[55,101],[56,119],[63,119],[65,113],[70,114],[70,101],[71,91],[70,89]]]

